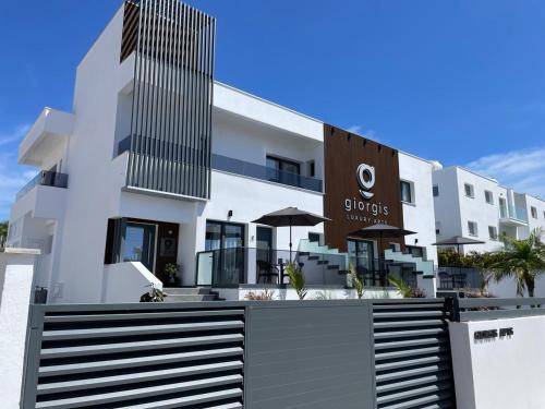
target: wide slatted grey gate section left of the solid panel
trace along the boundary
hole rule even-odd
[[[244,311],[33,305],[23,408],[242,408]]]

